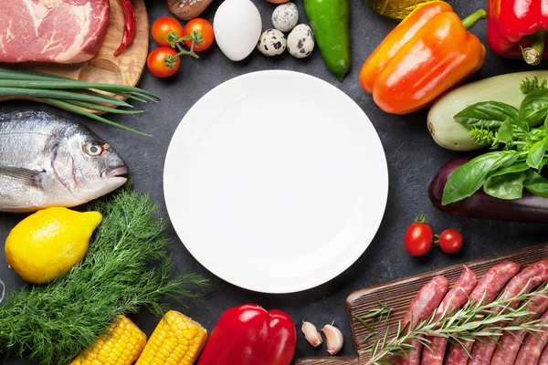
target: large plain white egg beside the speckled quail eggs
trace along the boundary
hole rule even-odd
[[[257,46],[262,30],[258,8],[250,0],[225,0],[215,13],[213,29],[225,56],[241,61]]]

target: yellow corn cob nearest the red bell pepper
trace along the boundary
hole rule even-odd
[[[207,331],[198,322],[174,310],[153,331],[135,365],[190,365],[200,355]]]

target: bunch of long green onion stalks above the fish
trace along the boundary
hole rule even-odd
[[[98,92],[98,91],[102,91]],[[110,124],[123,130],[149,136],[132,128],[122,126],[111,120],[91,113],[89,110],[111,112],[115,114],[139,114],[143,110],[119,110],[111,106],[133,108],[132,105],[112,95],[121,98],[135,99],[142,102],[158,102],[160,99],[143,89],[127,85],[84,82],[57,75],[41,72],[0,68],[0,97],[40,99],[58,108],[68,110],[93,120]]]

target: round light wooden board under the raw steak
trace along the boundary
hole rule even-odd
[[[114,56],[114,51],[121,43],[124,19],[120,0],[111,0],[111,16],[109,17],[107,34],[95,57],[87,62],[71,65],[27,63],[14,66],[87,82],[137,85],[141,79],[148,56],[149,18],[144,0],[132,0],[132,3],[135,10],[137,29],[132,44],[126,47],[119,56]],[[0,98],[0,101],[10,99],[19,98]],[[32,100],[32,98],[25,99]]]

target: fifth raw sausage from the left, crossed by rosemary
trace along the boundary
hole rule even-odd
[[[528,310],[534,313],[534,315],[531,316],[532,319],[536,319],[539,318],[546,309],[548,309],[548,297],[533,297],[532,304]],[[501,347],[495,349],[495,353],[490,362],[491,365],[513,364],[526,335],[527,332],[524,330],[504,333],[500,340]]]

